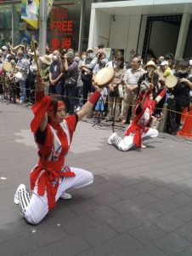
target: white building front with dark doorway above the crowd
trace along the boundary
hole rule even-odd
[[[135,53],[144,61],[167,52],[191,57],[191,14],[191,0],[93,3],[88,46],[122,49],[126,61]]]

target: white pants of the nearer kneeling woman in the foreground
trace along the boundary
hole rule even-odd
[[[59,188],[55,201],[66,189],[80,189],[93,183],[91,172],[71,167],[71,172],[75,172],[75,177],[60,177]],[[34,189],[29,205],[25,208],[24,218],[30,224],[38,224],[48,213],[47,192],[43,196],[37,195],[37,188]]]

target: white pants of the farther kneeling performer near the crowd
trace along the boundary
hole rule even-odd
[[[147,132],[143,132],[141,139],[147,139],[147,138],[152,138],[152,137],[157,137],[158,136],[158,131],[156,129],[150,128]],[[134,143],[133,143],[133,135],[129,135],[121,139],[121,137],[117,137],[116,139],[113,140],[112,143],[116,148],[118,148],[121,151],[127,151],[130,148],[133,148]]]

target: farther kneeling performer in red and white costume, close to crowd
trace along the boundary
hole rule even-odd
[[[128,126],[125,133],[125,137],[116,135],[116,132],[108,138],[108,144],[114,145],[121,151],[127,151],[133,146],[137,148],[146,148],[142,141],[145,139],[158,136],[158,131],[148,127],[152,113],[154,113],[155,104],[161,101],[161,98],[165,96],[166,89],[162,90],[159,96],[152,99],[151,89],[153,84],[149,84],[149,90],[144,95],[139,95],[138,105],[134,109],[135,117],[131,125]]]

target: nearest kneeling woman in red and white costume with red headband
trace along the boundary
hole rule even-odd
[[[82,109],[65,117],[65,104],[43,94],[42,79],[36,81],[36,103],[32,107],[35,114],[31,122],[38,147],[39,161],[31,171],[32,195],[20,184],[14,203],[20,205],[21,215],[30,224],[38,224],[49,210],[54,208],[59,197],[70,199],[65,191],[79,189],[93,183],[91,172],[65,165],[77,121],[81,120],[94,106],[100,97],[96,86]]]

